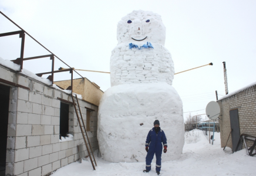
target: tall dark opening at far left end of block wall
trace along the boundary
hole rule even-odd
[[[0,84],[0,176],[5,175],[10,87]]]

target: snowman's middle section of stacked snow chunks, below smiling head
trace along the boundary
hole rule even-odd
[[[112,50],[111,86],[157,82],[166,82],[171,85],[174,64],[169,50],[159,43],[150,43],[152,47],[149,48],[142,47],[148,43],[144,41],[122,43]]]

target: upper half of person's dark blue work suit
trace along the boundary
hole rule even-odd
[[[162,144],[163,143],[163,144]],[[164,131],[159,129],[158,134],[156,134],[156,131],[154,128],[149,131],[149,134],[147,134],[147,140],[146,140],[146,147],[149,147],[149,151],[161,151],[163,149],[163,145],[167,146],[167,140],[166,140],[166,134],[164,134]]]

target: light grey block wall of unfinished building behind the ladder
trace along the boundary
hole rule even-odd
[[[8,141],[6,151],[6,174],[37,176],[47,175],[79,159],[79,144],[87,154],[85,143],[74,107],[69,106],[69,133],[72,141],[59,141],[60,100],[72,101],[69,94],[53,89],[30,77],[19,75],[0,67],[0,78],[29,87],[12,87],[9,101]],[[3,73],[3,74],[2,74]],[[97,106],[79,100],[83,120],[86,124],[86,109],[90,113],[90,142],[93,151],[97,143]]]

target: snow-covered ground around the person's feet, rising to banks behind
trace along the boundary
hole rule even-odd
[[[214,134],[213,145],[209,144],[201,130],[190,131],[185,134],[185,138],[181,158],[162,163],[161,175],[256,175],[256,157],[248,156],[245,150],[233,154],[231,148],[226,147],[223,151],[220,133]],[[76,162],[66,165],[51,176],[157,175],[155,163],[152,163],[149,173],[143,173],[145,163],[109,163],[101,158],[96,158],[96,161],[96,171],[93,171],[90,161],[83,161],[82,164]]]

